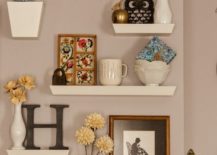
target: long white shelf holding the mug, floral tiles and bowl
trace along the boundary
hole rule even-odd
[[[173,96],[175,86],[50,86],[53,95]]]

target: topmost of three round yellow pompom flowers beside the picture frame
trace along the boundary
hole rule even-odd
[[[87,116],[84,125],[91,129],[101,129],[105,125],[105,119],[98,113],[92,113]]]

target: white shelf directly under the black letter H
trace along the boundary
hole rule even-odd
[[[69,150],[7,150],[8,155],[68,155]]]

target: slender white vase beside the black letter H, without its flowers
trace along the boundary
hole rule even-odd
[[[13,150],[23,150],[23,141],[26,136],[26,127],[22,116],[22,103],[14,106],[14,118],[11,125],[11,138],[13,141]]]

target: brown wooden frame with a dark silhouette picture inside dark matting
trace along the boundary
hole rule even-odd
[[[109,136],[112,155],[170,155],[169,116],[111,115]]]

